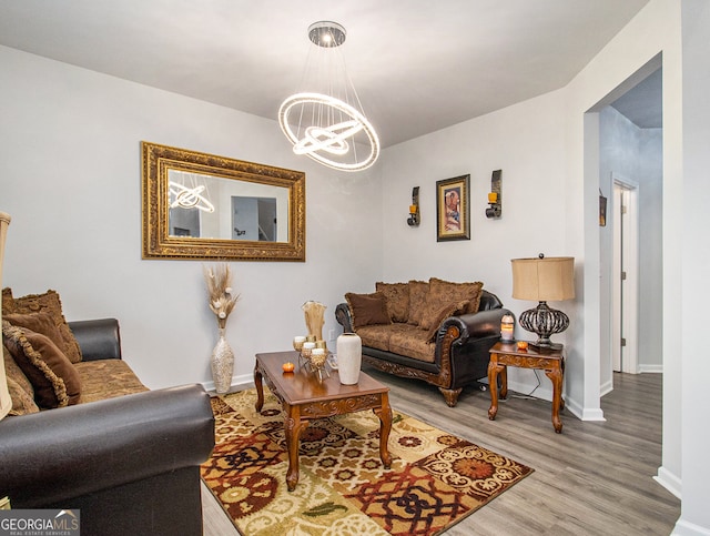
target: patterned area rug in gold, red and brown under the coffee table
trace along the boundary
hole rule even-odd
[[[288,492],[283,413],[264,396],[261,413],[255,390],[212,398],[216,446],[202,477],[243,535],[435,535],[532,473],[396,411],[385,469],[367,411],[311,422]]]

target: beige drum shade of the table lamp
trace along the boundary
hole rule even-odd
[[[513,297],[559,302],[575,297],[575,257],[513,259]]]

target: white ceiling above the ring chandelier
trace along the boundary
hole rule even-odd
[[[388,146],[566,85],[648,0],[2,0],[0,44],[276,119],[334,20]]]

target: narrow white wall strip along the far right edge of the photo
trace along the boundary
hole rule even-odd
[[[677,417],[681,422],[683,502],[674,534],[690,536],[710,534],[710,464],[707,462],[710,452],[710,427],[707,426],[710,360],[702,347],[704,337],[694,335],[698,330],[707,328],[710,303],[710,2],[683,0],[682,28],[683,178],[676,184],[682,202],[681,211],[674,214],[682,231],[674,235],[681,247],[682,306],[679,316],[682,324],[673,350],[680,350],[682,354],[679,371],[682,388],[677,393],[682,412]],[[677,307],[673,312],[678,313]]]

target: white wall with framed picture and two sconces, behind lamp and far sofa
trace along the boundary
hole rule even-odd
[[[562,93],[552,92],[386,150],[383,159],[384,279],[430,276],[481,281],[516,317],[532,302],[513,300],[510,259],[567,255],[561,225]],[[503,218],[485,215],[490,175],[503,170]],[[436,181],[470,174],[470,240],[436,241]],[[406,223],[412,188],[419,186],[422,224]],[[556,303],[565,310],[566,303]],[[516,327],[516,336],[531,334]],[[554,340],[565,342],[565,334]],[[545,378],[544,378],[545,380]],[[535,372],[510,370],[510,388],[537,385]],[[551,400],[549,382],[536,395]]]

